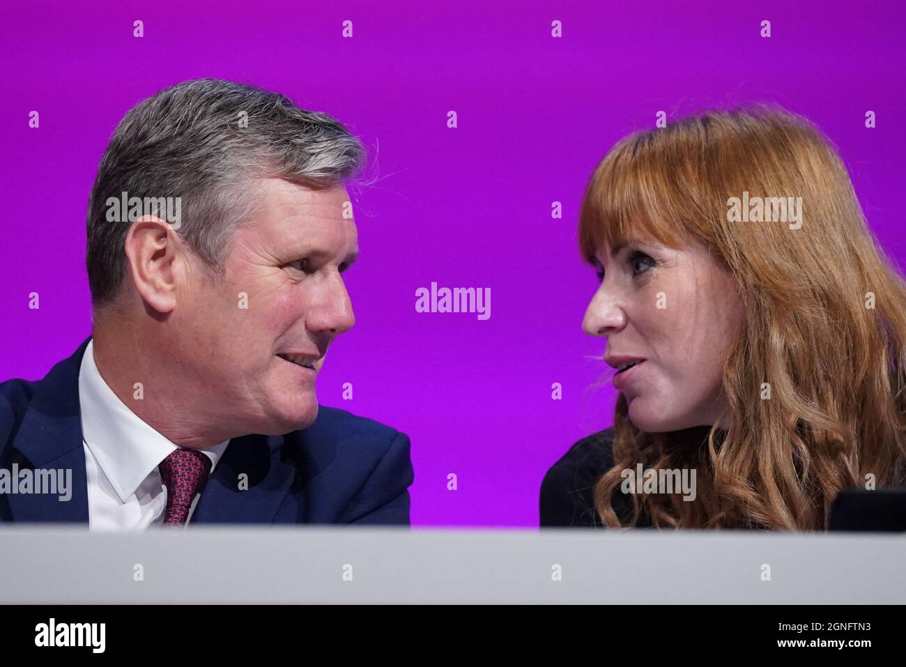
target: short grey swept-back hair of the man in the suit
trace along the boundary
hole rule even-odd
[[[223,275],[230,235],[257,208],[253,179],[330,188],[352,179],[363,157],[361,142],[339,121],[280,93],[218,79],[158,92],[120,121],[94,180],[86,253],[92,305],[111,304],[127,269],[130,223],[108,221],[108,198],[179,197],[174,229]]]

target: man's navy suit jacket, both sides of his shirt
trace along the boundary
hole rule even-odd
[[[68,501],[52,494],[2,493],[0,521],[88,521],[79,411],[79,369],[87,344],[43,380],[0,383],[0,468],[72,469]],[[408,525],[413,477],[404,433],[319,406],[307,429],[230,440],[190,523]]]

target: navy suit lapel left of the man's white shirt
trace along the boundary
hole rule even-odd
[[[15,435],[3,468],[71,470],[69,500],[57,494],[9,494],[14,521],[88,523],[88,480],[82,445],[79,411],[79,368],[84,343],[69,359],[57,363],[47,376],[34,383],[32,400]],[[58,489],[59,490],[59,489]]]

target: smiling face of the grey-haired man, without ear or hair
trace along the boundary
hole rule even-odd
[[[341,273],[358,238],[342,186],[257,183],[261,213],[236,228],[224,278],[193,262],[181,314],[189,322],[180,325],[191,333],[180,356],[214,414],[246,433],[278,435],[314,421],[323,355],[355,323]]]

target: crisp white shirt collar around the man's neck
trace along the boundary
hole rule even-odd
[[[101,377],[94,362],[93,341],[79,369],[82,438],[113,490],[126,502],[163,459],[178,449],[131,411]],[[201,451],[211,459],[211,472],[229,440]]]

